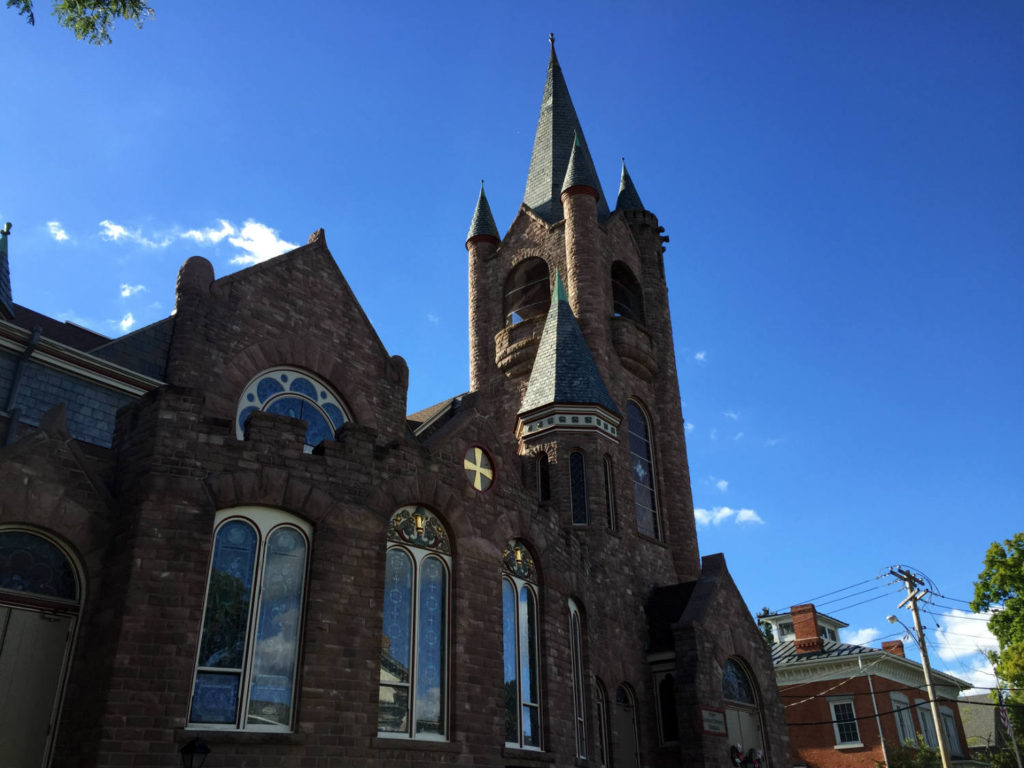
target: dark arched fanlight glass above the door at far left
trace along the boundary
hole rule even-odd
[[[0,590],[78,600],[78,581],[68,556],[28,530],[0,531]]]

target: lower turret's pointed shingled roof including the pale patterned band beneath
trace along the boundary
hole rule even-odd
[[[615,439],[621,420],[555,271],[551,308],[519,409],[517,435],[531,439],[552,430],[586,430]]]

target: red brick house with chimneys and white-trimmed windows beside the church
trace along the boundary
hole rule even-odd
[[[922,667],[906,658],[901,640],[882,648],[840,640],[847,625],[814,605],[761,616],[775,637],[772,660],[785,706],[794,763],[808,768],[874,768],[888,751],[915,745],[918,736],[938,748]],[[957,709],[970,683],[932,671],[949,756],[971,765]]]

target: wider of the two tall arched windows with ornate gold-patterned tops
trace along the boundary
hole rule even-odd
[[[382,736],[447,736],[452,546],[440,520],[402,507],[387,529],[381,637]]]

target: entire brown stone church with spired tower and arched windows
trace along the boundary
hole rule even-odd
[[[419,413],[323,230],[111,340],[13,303],[7,225],[0,765],[788,766],[697,552],[663,231],[553,44],[466,240],[470,390]]]

